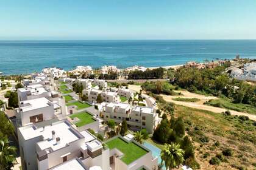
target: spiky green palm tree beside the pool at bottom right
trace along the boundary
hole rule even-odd
[[[179,166],[184,161],[183,155],[184,151],[180,149],[179,144],[165,144],[164,149],[161,151],[161,159],[162,163],[165,161],[166,170]]]

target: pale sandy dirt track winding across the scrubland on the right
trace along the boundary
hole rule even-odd
[[[215,113],[221,113],[221,112],[225,112],[227,109],[223,109],[220,107],[214,107],[214,106],[208,106],[203,104],[205,101],[208,101],[210,99],[216,99],[217,97],[206,97],[204,95],[199,95],[199,94],[193,94],[187,91],[176,91],[176,92],[181,92],[183,95],[180,96],[170,96],[170,95],[162,95],[163,99],[175,104],[179,104],[182,106],[187,106],[187,107],[192,107],[192,108],[196,108],[196,109],[202,109],[202,110],[208,110],[211,112],[215,112]],[[177,98],[177,97],[181,97],[181,98],[199,98],[200,101],[198,102],[185,102],[185,101],[175,101],[172,100],[173,98]],[[230,113],[232,115],[244,115],[249,117],[251,120],[255,120],[256,121],[256,115],[252,115],[252,114],[246,114],[243,112],[237,112],[235,110],[230,110]]]

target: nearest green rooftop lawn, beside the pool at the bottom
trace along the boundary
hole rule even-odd
[[[148,153],[148,151],[141,148],[137,144],[133,142],[127,143],[120,137],[113,138],[112,140],[107,141],[105,144],[107,144],[109,149],[116,148],[123,152],[124,155],[121,160],[123,160],[127,165]]]

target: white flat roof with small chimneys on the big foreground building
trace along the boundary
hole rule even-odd
[[[55,132],[55,139],[52,138],[52,131]],[[21,135],[24,140],[29,140],[35,137],[43,137],[42,141],[37,144],[41,150],[51,148],[53,151],[63,148],[66,144],[79,139],[79,132],[71,128],[70,124],[66,121],[58,121],[49,126],[36,127],[24,126],[20,128]],[[82,137],[82,135],[80,135]],[[57,144],[56,138],[60,138],[60,143]]]

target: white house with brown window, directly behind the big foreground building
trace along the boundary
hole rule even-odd
[[[20,101],[19,106],[16,109],[17,127],[41,121],[49,121],[57,118],[58,115],[65,114],[57,102],[49,101],[44,97]]]

